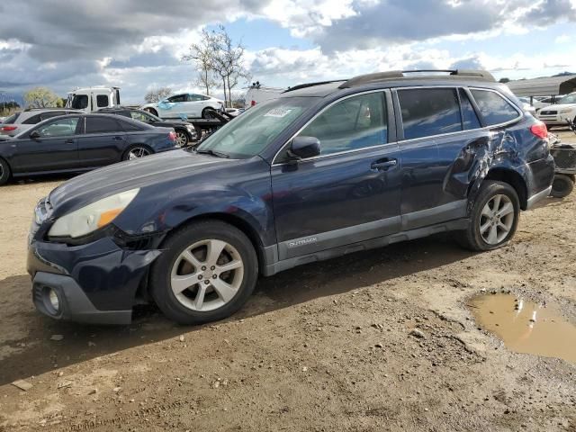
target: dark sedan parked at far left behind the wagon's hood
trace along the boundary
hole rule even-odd
[[[11,177],[89,171],[179,147],[171,128],[110,114],[64,115],[1,139],[0,184]]]

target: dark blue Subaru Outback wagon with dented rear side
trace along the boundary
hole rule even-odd
[[[501,247],[550,192],[546,136],[482,71],[299,85],[195,151],[58,186],[31,228],[33,301],[55,319],[128,323],[144,300],[201,323],[293,266],[448,230]]]

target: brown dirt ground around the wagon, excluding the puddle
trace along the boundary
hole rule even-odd
[[[0,190],[0,431],[576,430],[576,365],[509,351],[466,307],[511,290],[576,322],[576,193],[523,213],[497,251],[406,242],[262,279],[213,325],[147,307],[105,328],[31,303],[31,211],[63,180]]]

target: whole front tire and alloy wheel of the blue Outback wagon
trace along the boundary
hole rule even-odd
[[[216,260],[209,257],[211,247],[221,250],[214,253]],[[242,231],[227,223],[202,221],[176,229],[162,249],[165,252],[152,266],[149,286],[158,308],[170,320],[183,325],[222,320],[238,311],[254,291],[256,251]],[[227,265],[236,267],[219,270]]]

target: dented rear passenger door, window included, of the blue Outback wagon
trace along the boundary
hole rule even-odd
[[[464,89],[421,87],[396,94],[402,130],[402,229],[463,218],[468,187],[490,132],[482,129]]]

